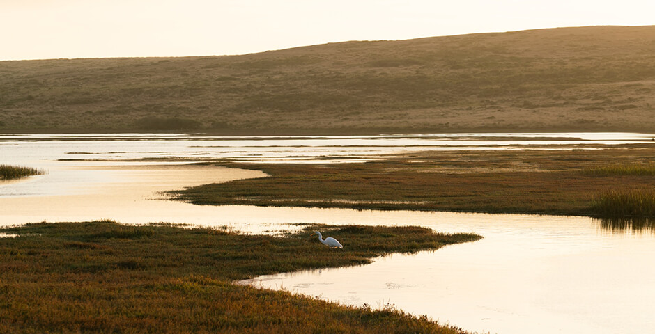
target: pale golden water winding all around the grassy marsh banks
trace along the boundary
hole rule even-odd
[[[652,138],[652,134],[0,136],[0,164],[49,170],[21,182],[0,183],[0,225],[111,218],[123,223],[229,225],[254,233],[299,228],[294,223],[422,225],[442,232],[476,232],[484,239],[436,252],[392,255],[362,267],[286,273],[249,283],[373,308],[393,304],[470,331],[652,333],[652,225],[632,228],[585,217],[195,206],[164,200],[160,191],[263,174],[121,161],[162,157],[323,161],[329,157],[334,162],[416,150],[563,148],[570,143],[599,148]]]

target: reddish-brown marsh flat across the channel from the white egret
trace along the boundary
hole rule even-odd
[[[424,152],[365,164],[238,164],[232,166],[271,176],[196,186],[177,195],[201,205],[603,215],[596,196],[606,189],[652,189],[655,175],[632,167],[619,168],[620,173],[590,170],[612,170],[602,166],[621,161],[646,164],[654,150],[643,145]]]

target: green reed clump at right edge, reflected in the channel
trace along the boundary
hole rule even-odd
[[[606,190],[594,198],[592,210],[603,217],[655,217],[655,190]]]

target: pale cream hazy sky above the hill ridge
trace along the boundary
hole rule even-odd
[[[248,54],[563,26],[655,24],[654,0],[0,0],[0,61]]]

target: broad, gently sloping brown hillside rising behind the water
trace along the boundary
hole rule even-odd
[[[0,132],[648,131],[655,26],[0,62]]]

